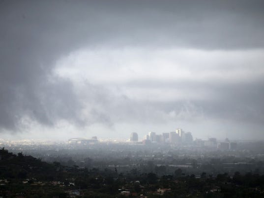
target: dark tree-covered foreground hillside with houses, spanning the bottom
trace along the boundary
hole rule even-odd
[[[0,150],[0,197],[175,197],[258,198],[264,197],[264,175],[236,172],[216,177],[185,175],[158,176],[133,169],[126,173],[49,164],[32,156]]]

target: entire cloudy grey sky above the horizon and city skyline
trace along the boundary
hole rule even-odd
[[[263,0],[0,1],[3,138],[264,139]]]

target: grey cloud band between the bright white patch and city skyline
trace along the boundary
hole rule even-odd
[[[135,86],[135,82],[132,83]],[[129,89],[132,85],[127,85]],[[171,120],[199,121],[214,119],[220,122],[231,121],[244,124],[263,124],[264,121],[264,80],[253,82],[231,83],[197,82],[197,81],[155,81],[141,82],[141,88],[158,89],[163,94],[163,88],[170,92],[188,90],[190,93],[205,96],[201,98],[180,98],[168,101],[143,100],[135,101],[125,96],[110,98],[100,102],[104,114],[111,115],[114,122],[132,123],[164,123]],[[105,95],[104,98],[108,96]],[[108,113],[107,113],[108,112]],[[173,112],[174,116],[170,117]]]

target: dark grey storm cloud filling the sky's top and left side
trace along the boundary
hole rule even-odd
[[[263,35],[262,0],[2,0],[0,126],[5,129],[18,129],[25,116],[46,125],[53,125],[59,119],[77,124],[89,123],[90,119],[92,122],[111,123],[110,116],[98,109],[91,109],[93,118],[83,117],[80,112],[84,108],[84,101],[76,94],[71,82],[52,74],[56,60],[71,51],[80,48],[111,49],[125,46],[252,49],[264,47]],[[96,87],[90,85],[88,88],[95,90],[90,92],[88,102],[96,100],[101,104],[105,103],[101,101]],[[237,88],[238,94],[245,93],[242,88]],[[256,88],[258,92],[263,91],[258,85]],[[224,87],[223,90],[223,94],[229,96],[226,93],[229,89]],[[230,94],[233,95],[232,90]],[[250,117],[251,114],[247,116],[247,112],[258,109],[263,115],[263,108],[258,108],[263,95],[258,93],[251,100],[251,94],[240,96],[243,98],[241,106],[249,108],[244,109],[242,114]],[[221,109],[222,106],[228,109],[231,104],[228,99],[233,101],[234,98],[209,104],[206,107],[208,115],[226,116],[221,115]],[[134,105],[133,102],[126,104],[124,102],[124,109],[125,106]],[[239,106],[239,102],[237,105]],[[106,108],[113,108],[114,111],[114,107]],[[235,110],[234,107],[232,109]],[[123,114],[126,114],[125,110]],[[140,112],[135,112],[135,115],[139,114]],[[260,117],[262,118],[263,116]]]

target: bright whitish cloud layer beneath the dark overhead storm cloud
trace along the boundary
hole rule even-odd
[[[108,95],[99,97],[104,99],[102,111],[115,121],[117,114],[129,121],[158,117],[164,122],[163,115],[174,112],[177,119],[203,116],[262,123],[263,52],[84,49],[59,60],[54,72],[76,87],[84,81],[103,86]],[[141,116],[133,113],[137,108]],[[151,109],[149,115],[145,109]],[[188,116],[179,116],[183,112]]]

